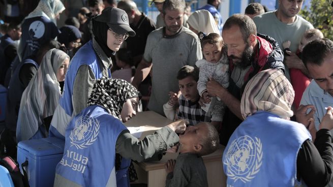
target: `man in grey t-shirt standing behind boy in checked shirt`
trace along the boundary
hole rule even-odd
[[[164,115],[163,104],[169,100],[168,92],[179,90],[176,79],[178,70],[185,65],[195,66],[195,62],[202,58],[198,37],[183,26],[184,10],[184,0],[164,2],[165,26],[149,34],[132,82],[137,87],[153,67],[152,95],[148,108],[161,115]]]

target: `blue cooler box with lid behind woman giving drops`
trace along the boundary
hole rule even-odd
[[[18,143],[17,162],[28,161],[24,168],[31,187],[53,186],[55,167],[63,158],[65,140],[54,137],[25,140]]]

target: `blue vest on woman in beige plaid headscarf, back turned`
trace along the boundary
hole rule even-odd
[[[311,136],[300,123],[260,111],[234,131],[223,153],[227,186],[294,186],[300,146]]]

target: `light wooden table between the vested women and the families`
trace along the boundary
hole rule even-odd
[[[131,120],[125,123],[127,127],[140,127],[141,138],[154,133],[172,122],[166,117],[153,111],[140,112]],[[226,186],[226,175],[222,168],[222,154],[224,146],[220,146],[217,151],[203,156],[203,161],[207,169],[207,179],[209,187]],[[160,161],[149,161],[134,164],[138,173],[137,183],[147,183],[148,187],[165,186],[166,171],[164,164],[169,159],[176,159],[178,153],[166,153]]]

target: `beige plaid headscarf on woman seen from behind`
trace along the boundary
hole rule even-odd
[[[246,85],[240,101],[244,119],[257,111],[267,111],[289,119],[295,92],[288,79],[279,70],[259,72]]]

